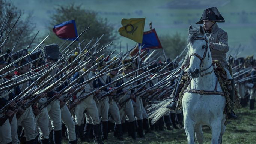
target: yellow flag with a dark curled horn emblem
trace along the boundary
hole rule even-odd
[[[145,18],[122,19],[123,27],[119,28],[119,34],[135,42],[142,43]]]

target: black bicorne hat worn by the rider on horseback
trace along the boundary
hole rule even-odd
[[[225,20],[218,11],[217,7],[211,7],[203,11],[202,17],[196,24],[203,24],[203,20],[216,21],[219,23],[224,23]]]

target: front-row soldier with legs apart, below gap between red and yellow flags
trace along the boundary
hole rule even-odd
[[[85,55],[82,61],[86,60],[86,58],[88,58],[89,56],[90,54],[88,53],[88,55]],[[90,69],[94,63],[95,63],[95,60],[93,60],[93,62],[89,62],[82,70],[76,72],[71,81],[74,81],[77,77],[79,77],[81,74],[86,72],[87,69]],[[83,78],[81,78],[78,83],[82,83],[85,80],[89,80],[90,78],[93,77],[93,75],[94,75],[93,72],[90,71],[89,73],[84,75]],[[95,92],[94,95],[99,94],[100,91],[97,89],[95,90],[95,87],[97,87],[96,85],[97,85],[97,81],[90,82],[89,84],[84,86],[83,90],[81,90],[76,94],[75,98],[81,98],[82,96],[92,91]],[[81,137],[81,141],[85,141],[85,140],[88,141],[89,133],[91,131],[91,128],[93,128],[93,134],[95,136],[96,142],[98,144],[103,144],[101,140],[101,134],[100,134],[98,108],[97,108],[96,102],[93,99],[93,95],[90,95],[89,97],[83,99],[81,102],[79,102],[78,99],[74,99],[74,101],[76,104],[75,105],[75,131],[76,132],[78,132],[79,126],[81,125],[81,122],[83,119],[84,111],[86,110],[86,128],[84,133],[85,139],[84,137]],[[91,121],[92,124],[89,124],[90,123],[89,117],[92,118],[92,121]]]

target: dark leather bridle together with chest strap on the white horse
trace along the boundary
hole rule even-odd
[[[210,55],[209,55],[209,51],[208,51],[208,40],[206,38],[203,38],[203,37],[196,37],[194,40],[205,40],[206,44],[205,44],[205,52],[203,53],[203,57],[201,57],[199,54],[197,53],[192,53],[190,56],[189,56],[189,60],[191,58],[191,56],[196,56],[197,58],[199,58],[201,60],[201,63],[200,63],[200,69],[203,67],[203,61],[206,57],[206,53],[208,53],[208,58],[210,58]],[[207,72],[205,74],[202,74],[202,72],[208,70],[209,68],[212,67],[212,63],[211,63],[211,66],[209,66],[208,68],[206,69],[203,69],[203,70],[200,70],[200,76],[203,77],[205,75],[208,75],[208,74],[211,74],[212,72],[214,72],[214,69],[212,69],[212,71],[210,72]],[[191,80],[190,80],[191,81]],[[188,83],[190,83],[190,81],[188,81]],[[220,92],[220,91],[217,91],[217,88],[218,88],[218,80],[216,81],[216,84],[215,84],[215,88],[214,90],[210,91],[210,90],[196,90],[196,89],[191,89],[191,83],[190,83],[190,88],[189,89],[186,89],[184,90],[183,93],[198,93],[200,95],[221,95],[221,96],[224,96],[224,93],[223,92]]]

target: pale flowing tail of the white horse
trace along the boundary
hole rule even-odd
[[[149,118],[151,118],[151,123],[156,123],[161,117],[163,117],[170,110],[166,108],[170,104],[171,100],[166,99],[164,101],[152,101],[154,104],[149,105],[148,110],[152,111],[149,113]]]

